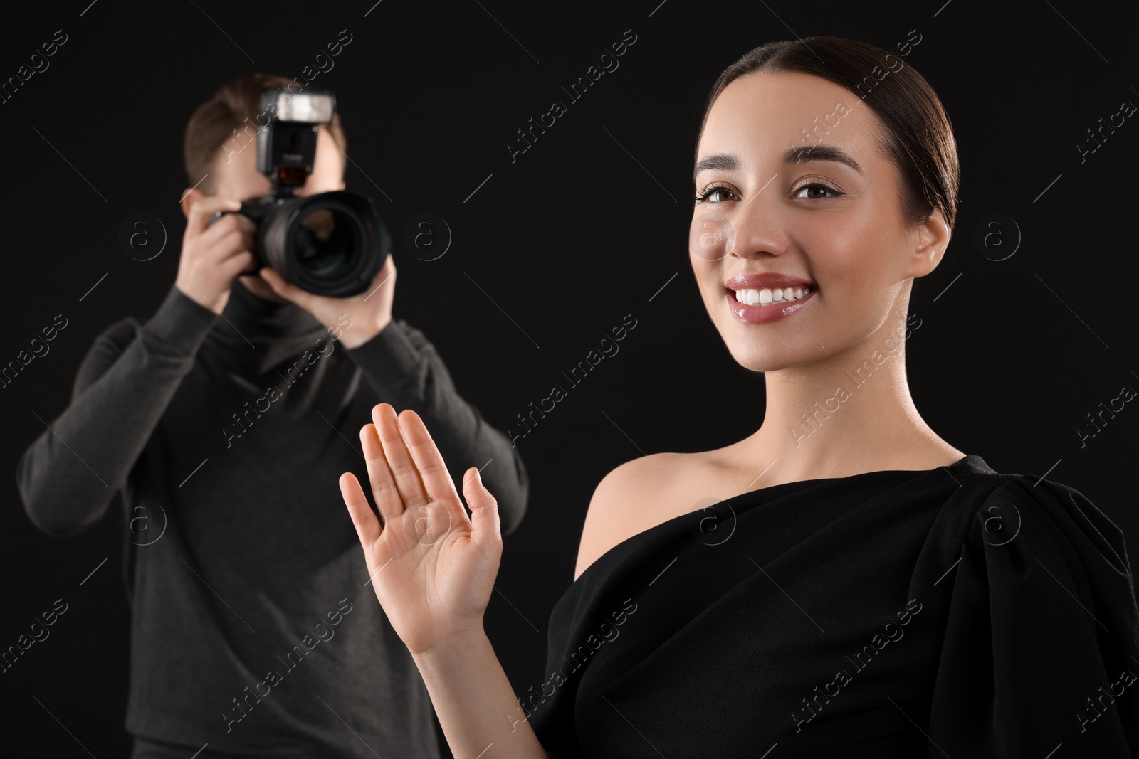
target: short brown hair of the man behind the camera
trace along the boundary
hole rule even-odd
[[[210,173],[214,160],[221,155],[222,146],[231,139],[243,142],[255,139],[257,105],[262,91],[271,86],[288,85],[296,86],[296,83],[287,76],[249,74],[226,82],[212,98],[198,106],[186,124],[182,155],[187,181],[191,185],[197,184],[206,195],[213,195],[211,181],[198,182]],[[333,114],[327,129],[333,142],[347,156],[347,141],[344,139],[338,113]]]

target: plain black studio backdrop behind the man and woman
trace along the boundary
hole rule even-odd
[[[0,364],[56,314],[69,322],[0,390],[6,471],[43,430],[36,415],[50,422],[66,407],[96,335],[124,315],[145,320],[172,286],[194,108],[252,71],[301,75],[347,30],[352,42],[312,84],[337,94],[349,187],[376,199],[396,238],[395,315],[432,339],[460,393],[505,429],[625,314],[638,320],[620,354],[518,443],[530,509],[507,538],[486,626],[523,693],[543,679],[547,618],[572,581],[600,478],[642,453],[727,445],[763,418],[763,378],[728,354],[688,263],[693,145],[713,80],[771,40],[834,34],[896,52],[917,30],[904,60],[942,98],[962,164],[952,244],[910,304],[923,320],[907,348],[918,410],[998,471],[1047,472],[1084,493],[1139,545],[1139,411],[1129,404],[1085,447],[1076,432],[1124,385],[1139,388],[1139,123],[1082,164],[1076,148],[1121,102],[1139,104],[1133,5],[89,1],[6,9],[0,25],[0,80],[56,30],[68,35],[50,68],[0,105]],[[560,88],[626,30],[637,41],[620,68],[570,102]],[[516,130],[554,100],[568,112],[511,163]],[[453,233],[436,261],[402,242],[423,212]],[[153,261],[118,244],[138,213],[169,234]],[[1008,259],[974,245],[989,214],[1023,234]],[[0,675],[0,740],[44,756],[125,756],[120,510],[54,539],[27,520],[13,476],[0,487],[0,649],[55,599],[69,604],[50,638]]]

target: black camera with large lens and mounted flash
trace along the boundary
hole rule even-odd
[[[338,190],[297,197],[312,173],[320,124],[329,124],[336,98],[316,88],[269,88],[257,114],[257,171],[271,195],[236,212],[257,224],[254,257],[314,295],[346,298],[368,289],[392,247],[371,198]],[[268,123],[262,123],[268,122]]]

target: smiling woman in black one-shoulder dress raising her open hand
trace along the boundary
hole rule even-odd
[[[757,48],[712,90],[695,183],[693,270],[764,373],[763,424],[601,480],[546,682],[516,696],[483,633],[501,543],[476,470],[468,519],[418,416],[380,404],[361,439],[383,529],[341,478],[454,756],[1139,750],[1121,531],[1070,487],[965,455],[909,394],[910,288],[958,184],[929,85],[849,40]]]

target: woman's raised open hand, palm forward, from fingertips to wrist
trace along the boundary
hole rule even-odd
[[[467,517],[443,457],[413,411],[386,403],[360,430],[372,496],[383,526],[351,472],[341,494],[363,546],[376,597],[411,653],[483,634],[502,555],[498,503],[478,470],[464,475]]]

